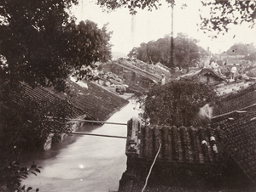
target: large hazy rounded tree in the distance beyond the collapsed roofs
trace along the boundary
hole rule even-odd
[[[179,33],[174,38],[174,65],[181,68],[188,68],[200,60],[204,49],[199,47],[193,38]],[[170,37],[166,36],[157,41],[142,43],[139,48],[133,48],[128,56],[133,56],[136,50],[137,59],[144,62],[156,64],[158,62],[172,67]]]

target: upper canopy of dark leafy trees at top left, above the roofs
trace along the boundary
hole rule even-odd
[[[1,68],[3,81],[63,89],[73,68],[79,70],[110,57],[107,27],[98,29],[90,21],[76,25],[67,13],[72,3],[78,1],[1,1],[0,55],[6,60]],[[89,72],[84,70],[83,75]]]

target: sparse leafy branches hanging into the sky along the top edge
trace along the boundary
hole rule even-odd
[[[166,0],[171,6],[175,5],[175,0]],[[137,13],[137,8],[159,8],[161,6],[158,0],[97,0],[97,4],[104,8],[115,9],[126,7],[130,9],[131,14]],[[201,29],[206,31],[228,31],[230,24],[241,24],[242,22],[255,24],[256,2],[248,0],[203,0],[201,4],[209,11],[201,14]],[[184,4],[184,7],[186,4]]]

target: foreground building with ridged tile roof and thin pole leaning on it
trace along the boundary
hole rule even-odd
[[[190,191],[190,187],[196,188],[197,184],[207,184],[210,178],[221,181],[220,172],[226,162],[224,139],[221,129],[144,126],[133,118],[128,121],[127,168],[119,182],[119,191],[142,191],[159,149],[146,191]]]

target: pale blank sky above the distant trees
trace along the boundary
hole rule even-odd
[[[189,37],[199,40],[203,48],[210,48],[218,54],[229,49],[234,43],[251,43],[256,46],[256,27],[249,29],[247,25],[236,25],[217,39],[208,37],[199,30],[201,1],[176,1],[174,8],[174,37],[183,32]],[[181,4],[186,3],[186,8]],[[204,10],[205,11],[205,10]],[[157,40],[171,33],[171,8],[165,3],[158,10],[138,10],[135,16],[129,14],[127,8],[120,8],[110,13],[103,12],[95,0],[79,0],[79,5],[73,8],[73,14],[78,20],[92,20],[98,27],[108,23],[108,31],[113,31],[111,43],[114,52],[128,54],[133,47],[139,47],[142,42]],[[235,36],[235,37],[234,37]]]

